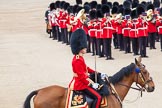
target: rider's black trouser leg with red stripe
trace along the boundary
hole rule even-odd
[[[87,89],[83,90],[83,92],[88,95],[90,98],[94,99],[91,108],[99,108],[102,97],[99,93],[97,93],[94,89],[91,87],[88,87]]]

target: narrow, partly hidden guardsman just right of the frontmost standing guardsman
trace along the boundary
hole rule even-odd
[[[111,10],[111,22],[112,22],[112,27],[113,27],[113,43],[114,43],[115,49],[119,48],[118,36],[117,36],[117,31],[116,31],[117,25],[115,23],[115,17],[117,15],[117,12],[118,12],[118,7],[114,6]]]

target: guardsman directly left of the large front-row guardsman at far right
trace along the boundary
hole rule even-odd
[[[137,10],[134,9],[131,12],[131,30],[130,30],[130,34],[129,37],[132,41],[132,51],[133,51],[133,55],[139,55],[139,42],[138,42],[138,35],[137,35]]]

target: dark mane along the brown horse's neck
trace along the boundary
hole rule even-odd
[[[131,63],[126,67],[123,67],[119,72],[110,77],[109,79],[110,82],[113,84],[118,83],[124,78],[124,76],[129,76],[133,72],[133,69],[135,69],[134,63]]]

